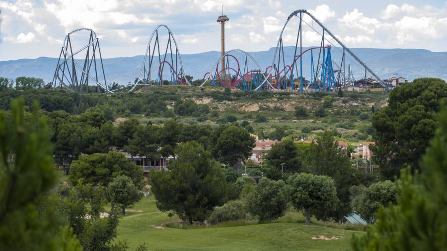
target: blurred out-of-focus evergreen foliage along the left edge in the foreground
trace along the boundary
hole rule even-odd
[[[54,206],[44,205],[57,180],[53,149],[37,105],[25,123],[23,104],[13,101],[8,119],[0,112],[0,250],[80,251]]]

